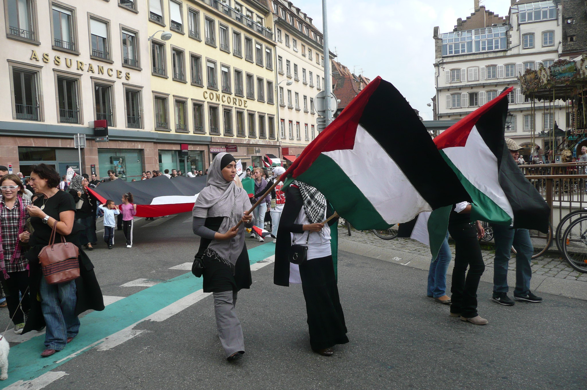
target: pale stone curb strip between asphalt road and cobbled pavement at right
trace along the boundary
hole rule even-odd
[[[430,256],[424,256],[407,251],[374,247],[369,244],[358,243],[357,241],[347,240],[339,237],[338,248],[340,251],[352,254],[376,258],[377,260],[387,261],[388,263],[406,265],[407,267],[417,268],[428,271],[430,268]],[[451,260],[448,265],[447,275],[452,275],[451,270],[454,267],[454,261]],[[487,266],[487,268],[493,268]],[[493,283],[493,273],[487,272],[481,275],[481,281]],[[508,285],[515,286],[515,272],[508,272]],[[530,282],[532,291],[544,292],[546,294],[560,295],[561,297],[575,298],[587,301],[587,282],[580,280],[568,280],[544,275],[532,274]],[[511,287],[510,287],[511,288]]]

